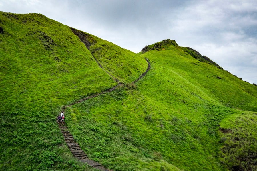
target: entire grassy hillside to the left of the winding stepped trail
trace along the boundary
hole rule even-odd
[[[55,118],[62,105],[117,82],[68,26],[41,14],[0,12],[0,27],[0,170],[92,170],[72,157]],[[133,71],[120,81],[147,68],[140,56],[112,47],[128,58],[127,72]]]

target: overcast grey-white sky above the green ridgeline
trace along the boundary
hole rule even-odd
[[[176,40],[257,84],[256,0],[0,0],[0,11],[41,13],[135,53]]]

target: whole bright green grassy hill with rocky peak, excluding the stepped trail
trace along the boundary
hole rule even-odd
[[[0,12],[0,170],[257,170],[257,87],[174,40],[135,54],[41,14]],[[150,61],[151,69],[138,82]]]

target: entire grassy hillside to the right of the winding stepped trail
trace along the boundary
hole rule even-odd
[[[123,86],[69,109],[82,148],[114,170],[256,169],[256,114],[237,109],[256,112],[256,87],[176,44],[161,49],[142,54],[151,70],[136,89]],[[234,117],[249,125],[224,124]]]

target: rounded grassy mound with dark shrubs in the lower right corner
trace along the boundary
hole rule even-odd
[[[221,135],[220,160],[230,170],[257,170],[256,119],[254,113],[242,113],[222,123],[230,128],[220,128],[224,133]]]

